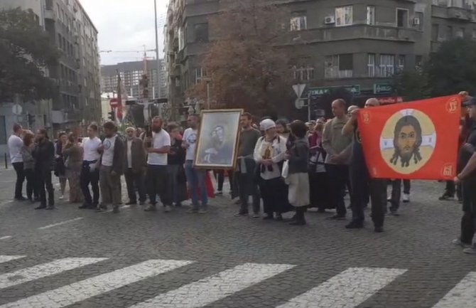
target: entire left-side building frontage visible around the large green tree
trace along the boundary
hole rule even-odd
[[[2,0],[0,9],[31,10],[38,23],[60,51],[58,65],[48,67],[46,75],[58,87],[51,100],[1,102],[0,135],[11,131],[13,122],[37,129],[45,127],[50,134],[69,130],[101,116],[99,92],[99,53],[97,30],[78,0]],[[13,115],[12,105],[21,105],[22,114]],[[28,124],[26,114],[35,115]],[[0,138],[0,147],[4,138]]]

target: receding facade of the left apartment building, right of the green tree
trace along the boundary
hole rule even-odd
[[[58,96],[53,98],[51,122],[55,131],[99,122],[99,50],[97,29],[78,0],[44,0],[45,30],[62,51],[50,68]]]

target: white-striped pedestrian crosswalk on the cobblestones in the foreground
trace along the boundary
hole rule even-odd
[[[132,285],[142,280],[157,277],[159,275],[173,275],[175,270],[181,267],[185,273],[193,271],[193,267],[200,267],[200,262],[190,260],[146,260],[134,265],[121,267],[111,272],[105,272],[92,277],[63,285],[45,292],[36,292],[36,289],[20,292],[20,294],[32,294],[23,298],[13,298],[6,302],[1,294],[7,288],[21,288],[22,284],[55,279],[55,275],[68,275],[70,271],[94,265],[100,268],[107,262],[112,262],[107,257],[65,257],[50,262],[40,263],[31,267],[21,268],[23,260],[28,260],[26,255],[0,255],[0,263],[11,263],[9,270],[0,273],[0,308],[61,308],[86,301],[92,297],[113,292],[119,288]],[[20,267],[17,270],[11,268]],[[189,268],[190,267],[190,268]],[[244,263],[230,266],[221,272],[202,278],[191,279],[176,289],[151,294],[142,302],[134,302],[129,308],[195,308],[219,302],[227,297],[234,296],[238,292],[247,290],[254,285],[261,287],[274,287],[278,282],[290,275],[297,267],[289,264],[261,264]],[[87,272],[87,271],[86,271]],[[102,271],[104,272],[104,271]],[[279,299],[273,306],[276,308],[356,308],[364,304],[373,296],[378,296],[380,290],[389,287],[397,279],[404,279],[405,269],[382,268],[382,267],[351,267],[339,274],[329,277],[320,284],[310,285],[308,290],[302,290],[301,294],[289,299]],[[282,276],[278,276],[282,275]],[[161,280],[163,277],[160,276]],[[275,279],[275,280],[274,280]],[[63,280],[60,280],[63,281]],[[286,280],[286,283],[289,280]],[[45,284],[48,286],[47,284]],[[58,285],[56,285],[58,286]],[[122,290],[122,289],[121,289]],[[441,299],[433,308],[467,308],[475,307],[476,272],[470,272],[463,280],[458,282],[447,294],[441,294]],[[18,292],[17,292],[18,294]],[[377,294],[377,295],[376,295]],[[405,296],[402,294],[402,296]],[[8,297],[11,298],[11,297]],[[434,304],[434,302],[432,304]],[[256,306],[259,306],[257,302]],[[129,304],[130,305],[130,304]],[[227,307],[232,307],[226,305]],[[241,307],[241,306],[240,306]],[[270,307],[264,304],[263,307]],[[427,306],[426,306],[427,307]]]

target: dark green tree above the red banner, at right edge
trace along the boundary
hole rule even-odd
[[[445,41],[430,56],[426,68],[431,95],[442,96],[474,91],[476,85],[476,42],[458,38]]]

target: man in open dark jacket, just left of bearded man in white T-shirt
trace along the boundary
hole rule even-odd
[[[136,129],[126,129],[126,149],[124,153],[124,178],[126,179],[129,202],[126,205],[137,204],[136,191],[139,191],[139,203],[146,202],[146,182],[144,181],[147,169],[146,151],[144,142],[136,137]]]

